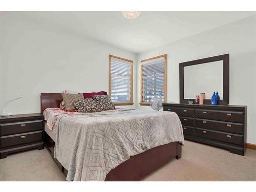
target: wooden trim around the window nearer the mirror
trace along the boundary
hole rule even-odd
[[[144,60],[141,60],[140,61],[140,105],[144,105],[144,106],[150,106],[150,103],[149,102],[143,102],[142,101],[142,82],[143,82],[143,79],[142,79],[142,65],[141,63],[142,62],[145,62],[145,61],[148,61],[148,60],[153,60],[153,59],[157,59],[157,58],[160,58],[160,57],[164,57],[164,85],[163,85],[163,102],[166,102],[166,85],[167,85],[167,54],[164,54],[164,55],[159,55],[159,56],[156,56],[156,57],[152,57],[152,58],[148,58],[148,59],[144,59]]]

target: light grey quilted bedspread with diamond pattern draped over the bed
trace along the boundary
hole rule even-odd
[[[54,157],[68,170],[68,181],[104,181],[131,156],[170,142],[184,143],[179,117],[164,111],[60,114],[55,131]]]

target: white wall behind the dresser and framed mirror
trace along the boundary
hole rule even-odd
[[[190,36],[138,55],[140,60],[167,54],[167,102],[179,102],[179,63],[229,53],[229,103],[247,105],[247,142],[256,144],[256,16]],[[150,106],[140,106],[150,110]]]

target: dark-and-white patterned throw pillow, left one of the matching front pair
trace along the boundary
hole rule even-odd
[[[74,106],[78,112],[91,113],[101,111],[97,102],[93,99],[81,99],[74,102]]]

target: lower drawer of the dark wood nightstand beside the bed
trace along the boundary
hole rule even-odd
[[[42,140],[42,131],[0,137],[0,148]]]

